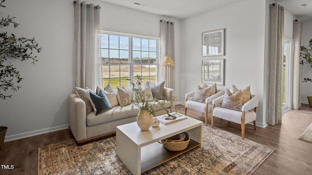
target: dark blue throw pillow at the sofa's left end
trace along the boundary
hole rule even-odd
[[[102,90],[98,92],[98,95],[90,92],[90,98],[94,103],[94,105],[96,106],[97,109],[96,115],[112,108],[112,106],[109,104],[107,96],[104,94]]]

